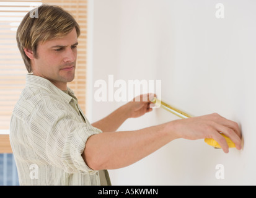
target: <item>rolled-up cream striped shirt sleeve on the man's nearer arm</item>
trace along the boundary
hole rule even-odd
[[[58,166],[67,173],[94,174],[82,158],[82,152],[87,139],[102,131],[82,122],[76,113],[64,102],[51,98],[40,100],[25,121],[27,138],[45,163]]]

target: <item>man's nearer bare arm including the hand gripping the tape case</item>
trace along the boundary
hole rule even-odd
[[[214,113],[177,119],[137,131],[95,134],[87,140],[82,157],[93,170],[123,168],[178,138],[213,138],[227,153],[227,142],[219,132],[223,132],[236,144],[237,149],[241,149],[241,131],[238,124]]]

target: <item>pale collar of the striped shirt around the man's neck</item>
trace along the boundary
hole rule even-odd
[[[33,75],[33,74],[26,75],[26,87],[43,88],[48,92],[54,93],[56,95],[60,95],[60,97],[63,97],[64,100],[66,100],[68,103],[71,100],[74,100],[73,97],[64,93],[62,90],[60,90],[60,88],[52,84],[50,80],[47,80],[37,75]],[[68,87],[68,92],[74,96],[73,90],[71,90],[71,88],[69,87]]]

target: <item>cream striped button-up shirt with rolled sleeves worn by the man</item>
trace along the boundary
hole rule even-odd
[[[27,74],[10,124],[20,185],[100,185],[99,171],[81,154],[87,139],[102,131],[89,123],[70,88],[68,93]]]

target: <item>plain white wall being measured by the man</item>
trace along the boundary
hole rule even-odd
[[[224,5],[224,19],[215,16]],[[162,100],[194,116],[217,112],[241,125],[244,149],[224,154],[203,140],[174,140],[149,157],[111,170],[113,185],[256,184],[256,2],[94,0],[94,82],[162,80]],[[93,97],[93,96],[92,96]],[[92,101],[92,121],[123,103]],[[162,109],[128,119],[133,130],[177,119]],[[215,167],[224,166],[224,179]]]

